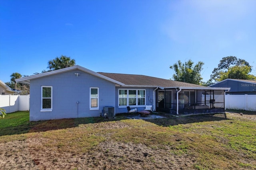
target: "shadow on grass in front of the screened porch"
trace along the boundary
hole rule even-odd
[[[203,115],[188,115],[188,116],[182,116],[179,117],[171,116],[170,114],[159,114],[166,118],[163,119],[147,119],[145,121],[155,123],[159,126],[173,126],[173,125],[179,125],[179,124],[187,124],[187,123],[198,123],[198,122],[205,122],[205,121],[221,121],[221,120],[227,120],[226,113],[220,113],[220,114],[203,114]]]

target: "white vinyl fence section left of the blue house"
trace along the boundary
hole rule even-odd
[[[29,110],[29,95],[0,95],[0,108],[6,113]]]

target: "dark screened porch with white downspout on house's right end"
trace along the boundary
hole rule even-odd
[[[165,88],[157,91],[156,110],[172,114],[222,113],[225,112],[227,90],[209,87]]]

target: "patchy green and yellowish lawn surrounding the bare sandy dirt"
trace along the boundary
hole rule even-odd
[[[51,148],[75,154],[92,150],[96,153],[97,146],[106,141],[142,144],[156,154],[158,150],[170,150],[169,156],[193,160],[186,167],[189,169],[256,169],[256,119],[253,117],[255,112],[244,112],[243,116],[227,114],[227,118],[196,115],[144,121],[119,115],[114,121],[90,117],[29,122],[29,112],[19,111],[0,119],[0,143],[40,138],[45,139],[41,150]],[[116,159],[112,151],[105,152]],[[157,162],[157,158],[152,158],[141,164]],[[113,169],[122,168],[117,165]]]

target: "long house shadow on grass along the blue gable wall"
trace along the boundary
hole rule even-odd
[[[8,114],[9,116],[12,113]],[[25,115],[29,116],[29,115]],[[80,124],[88,123],[100,123],[106,121],[119,121],[127,119],[124,115],[118,115],[115,119],[104,119],[103,117],[84,117],[84,118],[74,118],[74,119],[56,119],[56,120],[46,120],[46,121],[28,121],[22,120],[18,121],[16,118],[6,119],[6,121],[12,121],[17,123],[6,123],[6,126],[0,127],[0,136],[3,135],[16,135],[24,133],[42,132],[58,129],[66,129],[72,127],[78,127]],[[4,120],[2,120],[4,121]]]

